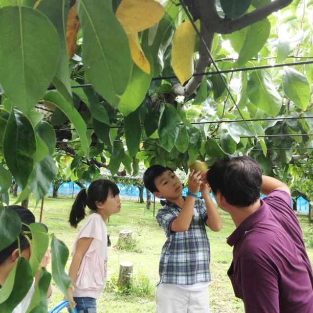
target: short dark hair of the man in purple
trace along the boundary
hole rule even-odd
[[[249,156],[217,160],[206,174],[213,194],[220,192],[227,203],[249,206],[260,198],[262,170]]]

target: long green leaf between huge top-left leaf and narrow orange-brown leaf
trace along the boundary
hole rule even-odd
[[[66,44],[66,27],[69,3],[70,0],[41,0],[36,9],[45,14],[45,16],[52,22],[58,32],[61,44],[61,53],[57,72],[52,82],[62,94],[62,96],[67,100],[67,102],[72,103],[72,90],[69,79],[70,73],[67,60]]]

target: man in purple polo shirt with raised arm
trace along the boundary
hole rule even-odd
[[[228,276],[247,313],[313,313],[313,273],[290,189],[248,156],[216,161],[206,177],[236,230]],[[260,192],[267,195],[260,199]]]

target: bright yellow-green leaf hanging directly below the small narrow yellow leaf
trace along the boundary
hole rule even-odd
[[[147,57],[153,66],[150,53],[147,54]],[[128,84],[125,92],[122,94],[118,104],[118,110],[124,115],[128,115],[129,113],[134,112],[140,106],[149,89],[152,73],[153,67],[151,73],[147,74],[133,63],[131,81]]]

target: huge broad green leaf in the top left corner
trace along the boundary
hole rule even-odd
[[[22,112],[29,112],[55,75],[60,40],[55,27],[38,10],[0,9],[0,84]]]

